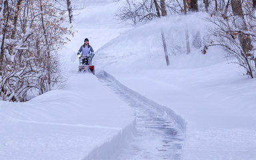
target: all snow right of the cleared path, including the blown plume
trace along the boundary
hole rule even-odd
[[[193,33],[201,30],[202,36],[206,31],[202,26],[209,26],[203,16],[168,17],[135,27],[99,49],[96,63],[123,85],[185,119],[182,159],[256,159],[255,79],[227,64],[234,59],[227,61],[217,47],[207,55],[196,47],[184,54],[184,26],[187,23],[192,42]],[[169,52],[175,45],[184,51],[171,55],[169,67],[161,28],[169,39]]]

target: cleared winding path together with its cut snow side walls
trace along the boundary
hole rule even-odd
[[[135,109],[135,123],[117,142],[95,149],[87,159],[181,159],[185,121],[171,109],[159,105],[121,84],[105,71],[97,74],[101,83]],[[127,130],[127,129],[126,129]],[[124,134],[130,134],[125,136]],[[105,144],[106,145],[106,144]],[[97,157],[101,149],[115,148],[105,157]]]

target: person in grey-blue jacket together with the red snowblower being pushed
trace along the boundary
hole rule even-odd
[[[89,39],[86,38],[84,42],[77,52],[77,57],[79,57],[79,72],[91,71],[94,75],[94,65],[92,65],[94,57],[93,47],[89,45]]]

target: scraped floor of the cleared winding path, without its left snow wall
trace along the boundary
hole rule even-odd
[[[168,112],[129,93],[104,72],[97,77],[135,109],[133,139],[122,142],[122,148],[111,159],[181,159],[183,132]]]

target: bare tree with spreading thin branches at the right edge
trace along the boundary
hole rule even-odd
[[[237,59],[234,63],[243,67],[250,78],[255,78],[256,17],[253,5],[231,0],[231,9],[228,7],[229,3],[223,13],[211,13],[208,18],[215,27],[209,30],[212,40],[207,47],[220,45],[227,51],[227,56]]]

